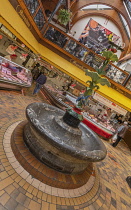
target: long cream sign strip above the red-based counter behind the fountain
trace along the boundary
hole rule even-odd
[[[127,113],[127,110],[123,109],[122,107],[118,106],[116,103],[108,100],[107,98],[104,98],[103,96],[101,96],[98,93],[95,93],[93,95],[93,98],[95,100],[99,101],[100,103],[104,104],[105,106],[111,108],[112,110],[116,111],[119,114],[122,114],[125,116]]]

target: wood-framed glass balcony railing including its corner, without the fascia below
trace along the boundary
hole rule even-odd
[[[48,22],[44,8],[40,0],[16,0],[29,18],[32,26],[37,29],[36,32],[48,44],[57,48],[70,59],[75,60],[81,66],[96,71],[103,65],[105,58],[90,49],[90,44],[83,45],[73,37],[64,33],[54,25]],[[10,0],[11,2],[11,0]],[[30,14],[30,15],[29,15]],[[34,26],[35,25],[35,26]],[[119,87],[128,92],[131,91],[131,75],[115,66],[111,62],[105,68],[106,77],[113,85],[119,84]]]

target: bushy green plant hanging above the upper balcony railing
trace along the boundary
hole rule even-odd
[[[71,12],[66,9],[60,9],[58,12],[58,21],[63,24],[67,25],[70,20]]]

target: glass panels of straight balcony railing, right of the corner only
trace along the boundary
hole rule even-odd
[[[103,65],[105,59],[102,56],[96,54],[94,51],[51,24],[49,24],[49,28],[47,29],[44,38],[49,40],[53,45],[59,47],[60,50],[62,49],[62,51],[65,51],[66,54],[71,55],[72,58],[74,57],[75,60],[82,61],[83,65],[87,64],[87,68],[91,67],[91,70],[97,70]],[[121,85],[125,84],[125,80],[129,77],[127,72],[111,62],[105,68],[105,72],[106,77]]]

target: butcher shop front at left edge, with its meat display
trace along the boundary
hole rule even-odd
[[[30,50],[0,23],[0,89],[23,91],[30,87],[33,63]]]

